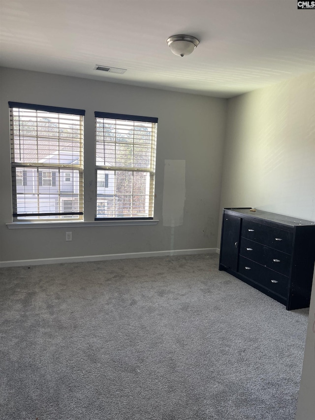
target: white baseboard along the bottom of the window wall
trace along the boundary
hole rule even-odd
[[[172,255],[213,254],[217,248],[179,249],[173,251],[132,252],[128,254],[88,255],[81,257],[21,259],[16,261],[2,261],[0,267],[18,267],[23,265],[60,264],[64,262],[104,261],[108,259],[163,257]]]

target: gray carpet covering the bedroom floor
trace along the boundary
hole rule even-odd
[[[0,269],[2,420],[293,420],[308,310],[218,255]]]

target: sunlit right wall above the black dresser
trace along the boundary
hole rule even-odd
[[[315,221],[315,73],[228,100],[221,208]]]

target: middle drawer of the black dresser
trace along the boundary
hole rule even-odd
[[[265,265],[284,276],[290,274],[291,256],[265,245],[241,238],[240,255],[254,262]]]

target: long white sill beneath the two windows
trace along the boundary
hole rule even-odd
[[[95,222],[13,222],[6,223],[8,229],[39,229],[56,227],[100,227],[100,226],[145,226],[157,225],[158,220],[102,220]]]

